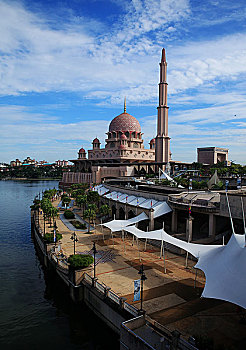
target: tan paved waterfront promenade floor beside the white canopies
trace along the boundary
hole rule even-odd
[[[54,206],[58,202],[53,202]],[[77,208],[78,209],[78,208]],[[76,211],[82,216],[82,212]],[[62,233],[62,251],[69,256],[73,254],[71,233],[58,219],[59,233]],[[40,216],[40,225],[43,227]],[[46,232],[50,231],[48,223]],[[170,331],[177,329],[184,338],[200,335],[213,338],[216,344],[232,345],[243,349],[245,345],[245,324],[242,314],[236,305],[215,299],[201,299],[205,283],[201,271],[195,277],[193,261],[188,261],[185,269],[185,258],[165,251],[164,260],[160,259],[160,249],[145,242],[133,241],[128,234],[124,239],[121,233],[113,239],[107,229],[96,226],[93,233],[76,231],[78,242],[76,253],[90,253],[93,242],[98,251],[96,257],[96,277],[100,283],[109,286],[129,304],[140,308],[140,302],[133,301],[133,281],[139,279],[140,265],[144,265],[147,280],[144,282],[143,309],[146,314]],[[93,269],[89,271],[93,276]],[[195,281],[196,279],[196,281]]]

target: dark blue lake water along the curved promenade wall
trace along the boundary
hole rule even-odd
[[[0,181],[0,348],[119,349],[115,334],[70,301],[36,254],[30,205],[36,194],[57,185]]]

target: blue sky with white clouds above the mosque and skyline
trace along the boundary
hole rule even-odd
[[[0,0],[0,33],[0,162],[103,146],[125,96],[149,147],[164,47],[172,159],[246,164],[245,0]]]

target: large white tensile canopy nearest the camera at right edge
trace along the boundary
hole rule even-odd
[[[206,276],[202,297],[222,299],[246,309],[245,235],[233,233],[224,246],[187,243],[168,235],[163,229],[144,232],[129,226],[124,231],[138,238],[165,241],[186,250],[198,259],[195,267]]]

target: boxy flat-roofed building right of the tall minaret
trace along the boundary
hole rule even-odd
[[[197,161],[209,165],[224,162],[227,165],[228,149],[220,147],[197,148]]]

